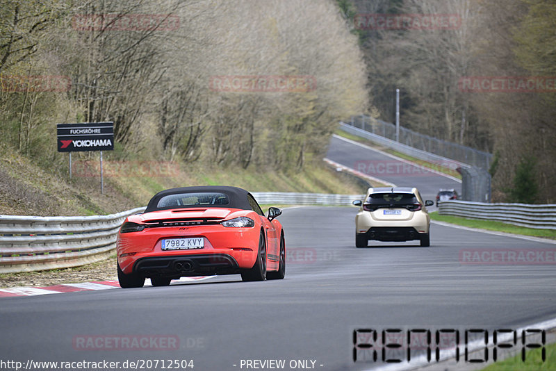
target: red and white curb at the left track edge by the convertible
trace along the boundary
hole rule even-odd
[[[207,277],[181,277],[181,279],[174,279],[172,282],[191,282],[203,281],[215,276]],[[152,286],[151,280],[145,280],[145,286]],[[55,285],[48,287],[15,287],[15,288],[0,288],[0,297],[15,297],[15,296],[33,296],[33,295],[46,295],[46,294],[63,294],[64,292],[77,292],[77,291],[94,291],[94,290],[110,290],[112,288],[120,288],[120,283],[117,281],[93,281],[85,283],[65,283],[63,285]]]

